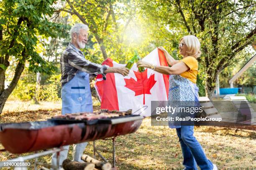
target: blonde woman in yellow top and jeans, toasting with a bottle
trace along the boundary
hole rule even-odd
[[[170,75],[169,102],[198,101],[197,57],[200,57],[201,52],[197,37],[187,35],[180,40],[179,53],[183,56],[182,60],[175,60],[164,47],[158,48],[164,52],[171,67],[152,65],[145,61],[138,61],[137,67],[147,67]],[[217,170],[216,165],[207,159],[202,146],[194,137],[194,126],[170,125],[170,128],[176,128],[184,158],[184,170],[197,170],[197,165],[201,170]]]

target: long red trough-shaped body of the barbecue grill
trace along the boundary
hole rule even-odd
[[[139,115],[100,120],[61,120],[0,124],[0,143],[11,153],[27,153],[134,133]]]

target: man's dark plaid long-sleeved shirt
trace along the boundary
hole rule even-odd
[[[83,52],[70,42],[61,55],[61,86],[72,80],[78,70],[87,72],[91,74],[90,76],[102,74],[105,79],[104,71],[107,69],[107,65],[99,65],[86,60]]]

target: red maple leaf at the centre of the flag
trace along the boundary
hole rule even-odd
[[[150,77],[148,78],[148,69],[146,69],[144,72],[133,72],[137,78],[137,81],[135,81],[133,78],[125,78],[125,87],[127,87],[130,90],[133,90],[135,92],[135,96],[144,95],[143,105],[145,105],[145,94],[151,95],[150,90],[156,83],[155,75],[150,75]]]

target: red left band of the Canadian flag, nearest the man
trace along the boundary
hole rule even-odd
[[[102,65],[108,65],[110,67],[113,67],[113,60],[107,58],[105,61],[102,62]],[[97,75],[97,79],[100,78],[102,78],[102,75]],[[101,97],[101,109],[119,110],[114,73],[106,74],[106,80],[96,82],[95,87]],[[109,95],[109,92],[111,92],[111,95]]]

